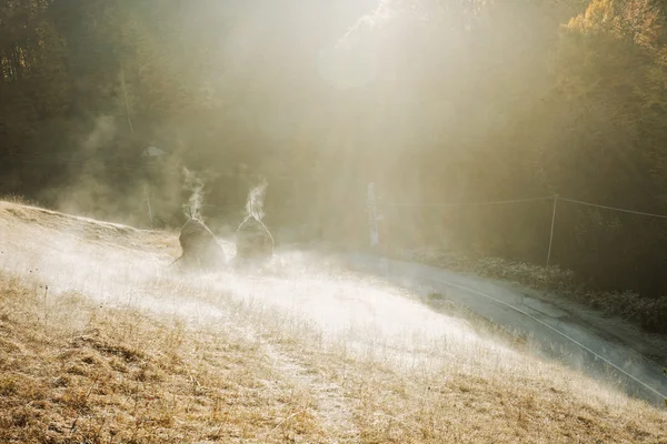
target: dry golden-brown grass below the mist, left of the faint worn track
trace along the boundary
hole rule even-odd
[[[0,289],[2,443],[325,442],[308,396],[246,339]]]

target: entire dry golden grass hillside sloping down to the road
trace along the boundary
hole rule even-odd
[[[172,234],[0,203],[0,250],[2,443],[667,443],[664,411],[467,330],[329,334],[272,301],[288,272],[155,272]],[[328,310],[358,287],[439,319],[337,273]]]

